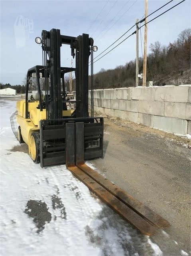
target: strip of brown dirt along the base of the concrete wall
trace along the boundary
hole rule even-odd
[[[103,116],[101,113],[95,113],[95,115]],[[110,126],[114,125],[115,126],[114,128],[116,129],[116,125],[117,125],[120,130],[128,131],[128,133],[137,137],[141,136],[143,133],[144,134],[154,133],[161,137],[174,140],[180,144],[187,145],[187,147],[191,148],[191,140],[188,139],[187,137],[178,136],[178,135],[175,135],[174,133],[168,133],[168,132],[154,129],[152,127],[148,127],[139,123],[134,123],[124,119],[120,119],[118,117],[111,117],[109,115],[104,115],[103,117],[104,117],[104,126],[106,126],[107,124],[109,124]],[[105,132],[106,130],[107,129],[105,129]]]

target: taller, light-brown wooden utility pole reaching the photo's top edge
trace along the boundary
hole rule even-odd
[[[148,0],[145,0],[145,24],[148,21]],[[144,36],[144,58],[143,58],[143,86],[146,86],[147,76],[147,24],[145,25],[145,36]]]

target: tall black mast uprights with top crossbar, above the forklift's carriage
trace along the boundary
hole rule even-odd
[[[76,76],[76,110],[74,117],[88,117],[88,77],[89,56],[93,46],[93,38],[88,34],[82,36],[64,36],[59,29],[42,31],[42,49],[45,54],[45,62],[50,71],[50,95],[48,100],[48,119],[61,119],[62,96],[61,96],[61,55],[62,44],[69,44],[71,55],[75,57]],[[49,60],[47,60],[47,55]],[[47,60],[47,61],[46,61]]]

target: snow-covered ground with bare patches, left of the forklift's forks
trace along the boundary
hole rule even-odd
[[[16,101],[0,99],[0,109],[0,255],[162,255],[65,165],[33,163],[10,126]]]

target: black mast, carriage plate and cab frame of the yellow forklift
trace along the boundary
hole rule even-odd
[[[36,41],[36,39],[35,39]],[[28,75],[36,71],[39,110],[46,110],[46,119],[39,121],[40,163],[41,167],[62,164],[74,164],[76,157],[73,150],[84,159],[103,156],[103,118],[93,116],[93,39],[88,34],[64,36],[59,29],[42,30],[43,65],[35,66]],[[61,46],[69,44],[71,56],[75,58],[75,68],[61,67]],[[89,56],[91,56],[91,116],[89,116]],[[39,71],[45,78],[45,96],[41,99]],[[65,115],[64,75],[75,72],[76,109]],[[48,80],[50,83],[48,85]],[[61,85],[62,79],[62,85]],[[27,87],[28,90],[28,87]],[[26,93],[26,110],[28,109]],[[30,116],[29,111],[27,116]],[[73,124],[71,124],[73,123]],[[72,127],[69,129],[70,125]],[[74,129],[72,131],[72,129]],[[71,143],[75,139],[75,145]],[[73,156],[72,161],[70,161]]]

